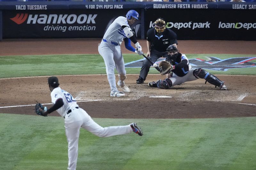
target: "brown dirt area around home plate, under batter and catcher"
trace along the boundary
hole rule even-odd
[[[58,76],[60,87],[70,92],[92,117],[99,118],[216,118],[256,116],[256,76],[218,76],[226,81],[222,91],[204,79],[186,82],[171,89],[136,84],[138,75],[127,75],[131,92],[110,97],[106,75]],[[37,101],[51,107],[48,77],[0,79],[0,113],[35,114]],[[148,75],[147,81],[163,79]],[[116,77],[117,79],[117,77]],[[248,81],[250,79],[250,81]],[[43,83],[41,83],[43,82]],[[45,83],[44,83],[45,82]],[[254,83],[252,83],[254,82]],[[94,86],[92,86],[94,85]],[[241,88],[246,87],[246,88]],[[119,88],[121,91],[122,89]],[[168,96],[170,98],[156,98]],[[6,107],[6,106],[23,107]],[[59,114],[55,111],[53,116]],[[49,115],[49,116],[50,116]]]

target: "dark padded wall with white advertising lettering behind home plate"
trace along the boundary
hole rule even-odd
[[[79,1],[0,2],[0,40],[101,38],[131,9],[140,14],[131,26],[138,39],[162,17],[178,40],[256,40],[256,3]]]

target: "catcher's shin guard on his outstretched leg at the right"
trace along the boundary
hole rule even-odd
[[[210,84],[215,85],[215,87],[216,86],[220,87],[221,85],[224,84],[223,81],[221,81],[219,78],[217,78],[216,76],[212,75],[211,73],[207,72],[204,69],[194,70],[193,75],[196,78],[204,78],[206,80],[205,84],[206,84],[206,82],[209,82]]]

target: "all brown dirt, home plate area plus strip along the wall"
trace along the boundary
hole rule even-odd
[[[0,55],[98,54],[100,39],[3,40]],[[96,45],[95,45],[96,44]],[[146,48],[146,41],[141,41]],[[255,41],[179,41],[184,53],[256,54]],[[92,48],[95,46],[95,48]],[[16,47],[15,50],[11,47]],[[200,47],[200,52],[198,52]],[[123,53],[129,53],[122,45]],[[11,50],[12,49],[12,50]],[[204,51],[205,49],[205,51]],[[218,49],[216,51],[216,49]],[[241,50],[243,49],[243,50]],[[80,107],[100,118],[216,118],[256,116],[256,76],[218,76],[227,91],[204,84],[204,79],[186,82],[172,89],[148,87],[149,81],[165,78],[148,75],[137,85],[138,75],[127,75],[131,92],[123,98],[110,97],[106,75],[60,76],[60,87],[76,97]],[[39,80],[40,79],[40,80]],[[45,80],[45,83],[42,82]],[[116,77],[117,80],[117,77]],[[121,89],[119,89],[121,90]],[[171,98],[153,98],[169,96]],[[47,77],[0,79],[0,113],[35,114],[36,101],[50,103]],[[51,105],[47,105],[48,107]],[[3,108],[4,107],[4,108]],[[57,112],[51,115],[58,116]]]

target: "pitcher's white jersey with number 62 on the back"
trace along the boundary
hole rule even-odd
[[[57,109],[57,112],[62,116],[65,117],[67,115],[68,110],[71,108],[78,107],[76,104],[76,100],[72,97],[71,94],[62,90],[60,87],[57,87],[52,90],[51,92],[52,104],[54,105],[57,100],[62,99],[64,105]]]

